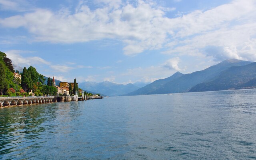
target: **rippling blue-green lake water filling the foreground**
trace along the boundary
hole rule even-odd
[[[0,159],[256,159],[256,90],[0,108]]]

